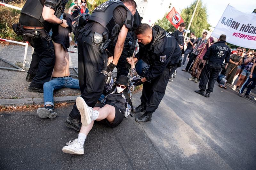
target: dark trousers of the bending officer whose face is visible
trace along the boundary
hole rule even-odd
[[[162,75],[157,77],[151,82],[144,82],[142,95],[140,97],[141,103],[146,104],[146,112],[153,113],[156,111],[158,105],[164,97],[166,86],[171,78],[172,73],[176,70],[177,66],[173,67],[171,70],[165,68]]]

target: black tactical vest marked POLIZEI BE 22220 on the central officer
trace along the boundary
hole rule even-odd
[[[130,27],[129,29],[132,29],[132,15],[130,11],[124,6],[124,4],[119,0],[108,0],[107,2],[100,4],[92,12],[92,15],[89,19],[91,21],[99,23],[105,29],[107,29],[108,33],[110,34],[111,40],[114,40],[117,37],[121,29],[119,25],[115,24],[113,18],[113,12],[118,6],[124,7],[124,9],[127,11],[127,18],[124,21],[124,24],[126,24],[128,28]]]

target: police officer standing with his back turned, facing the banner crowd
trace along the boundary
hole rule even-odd
[[[222,34],[220,35],[219,41],[209,47],[204,54],[203,60],[207,60],[207,64],[204,66],[204,69],[201,73],[202,77],[198,86],[200,90],[195,90],[196,93],[204,97],[210,97],[210,93],[213,90],[214,83],[221,71],[223,61],[225,60],[226,65],[226,63],[229,62],[230,54],[231,50],[226,45],[226,35]],[[208,89],[206,90],[206,94],[204,95],[207,82]]]

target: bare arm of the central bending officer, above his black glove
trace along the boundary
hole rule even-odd
[[[128,33],[128,28],[126,28],[125,25],[123,25],[123,27],[120,30],[120,33],[117,37],[117,42],[116,42],[116,46],[115,46],[115,50],[114,50],[114,58],[113,58],[113,64],[117,65],[118,60],[122,54],[123,48],[124,48],[124,41],[126,38],[126,35]]]

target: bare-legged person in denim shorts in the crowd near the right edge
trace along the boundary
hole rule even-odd
[[[249,77],[250,71],[248,71],[248,70],[251,70],[252,64],[253,64],[252,63],[252,53],[253,53],[253,51],[249,50],[247,52],[247,54],[244,56],[244,58],[243,58],[244,63],[242,61],[242,63],[244,64],[244,70],[242,71],[238,81],[236,82],[236,85],[234,85],[234,87],[232,88],[233,90],[236,90],[237,87],[239,87],[240,85],[242,85],[244,83],[244,81],[246,80],[246,77]],[[245,69],[245,67],[247,67],[247,68]]]

